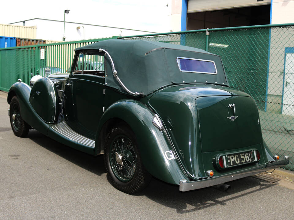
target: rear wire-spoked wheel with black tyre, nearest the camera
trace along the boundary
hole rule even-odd
[[[128,127],[115,127],[105,139],[104,163],[112,185],[125,193],[137,193],[150,182],[151,175],[141,163],[138,144]]]

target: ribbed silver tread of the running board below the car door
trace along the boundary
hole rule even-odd
[[[85,136],[81,134],[78,134],[77,132],[72,130],[65,121],[52,125],[51,128],[55,130],[57,133],[61,134],[62,136],[70,139],[71,141],[75,141],[77,143],[80,143],[92,148],[95,147],[94,140],[90,138],[86,138]]]

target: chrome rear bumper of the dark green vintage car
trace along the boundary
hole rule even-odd
[[[271,170],[277,167],[282,167],[284,165],[287,165],[289,163],[289,157],[284,156],[284,160],[278,160],[272,163],[267,163],[264,165],[259,165],[257,167],[249,168],[242,171],[233,172],[230,174],[217,176],[217,177],[211,177],[207,179],[197,180],[197,181],[191,181],[188,182],[187,180],[180,180],[180,187],[179,190],[182,192],[194,190],[194,189],[201,189],[213,185],[218,185],[221,183],[233,181],[236,179],[240,179],[247,176],[252,176],[254,174],[261,173],[263,171]]]

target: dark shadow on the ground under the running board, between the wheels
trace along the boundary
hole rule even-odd
[[[30,130],[27,138],[34,141],[41,147],[61,156],[62,158],[100,176],[106,173],[103,155],[92,156],[87,153],[75,150],[63,145],[36,130]]]

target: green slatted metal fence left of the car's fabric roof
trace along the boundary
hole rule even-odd
[[[0,90],[8,91],[10,86],[21,79],[29,84],[32,76],[67,72],[74,57],[74,49],[101,40],[116,39],[117,36],[102,39],[38,44],[22,47],[0,48]]]

